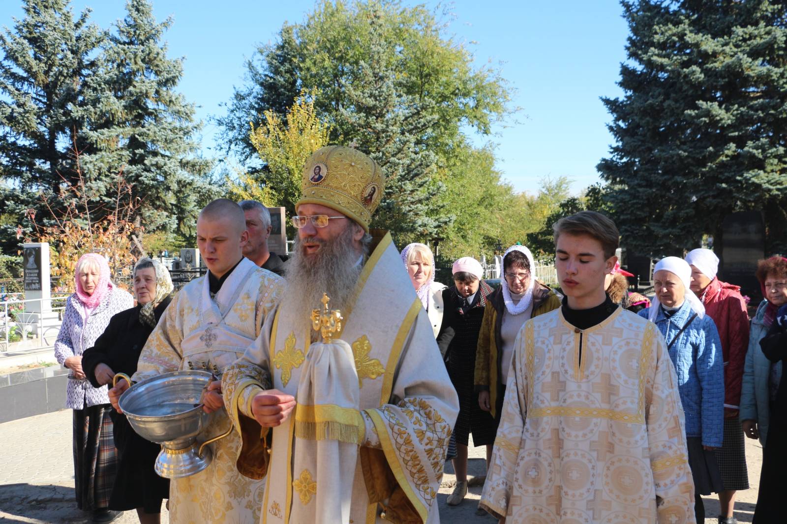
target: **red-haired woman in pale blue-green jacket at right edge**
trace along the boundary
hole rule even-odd
[[[767,335],[779,307],[787,304],[787,258],[760,260],[755,274],[765,298],[759,302],[749,328],[739,416],[744,434],[748,438],[759,438],[760,444],[765,447],[770,425],[770,403],[776,400],[781,362],[768,360],[759,341]]]

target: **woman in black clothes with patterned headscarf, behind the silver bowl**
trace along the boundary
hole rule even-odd
[[[142,347],[172,299],[172,280],[161,262],[142,258],[134,268],[134,294],[137,306],[117,313],[85,351],[82,367],[94,387],[112,383],[116,373],[133,375]],[[109,509],[137,510],[139,522],[157,524],[161,500],[169,498],[169,481],[156,475],[153,463],[161,447],[140,437],[126,416],[112,412],[117,475],[109,497]]]

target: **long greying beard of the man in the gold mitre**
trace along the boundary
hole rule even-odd
[[[352,228],[320,244],[314,255],[305,255],[302,240],[296,238],[295,252],[287,263],[287,289],[281,310],[284,318],[301,332],[311,332],[310,316],[312,310],[322,308],[323,293],[331,299],[328,304],[331,310],[345,310],[363,269],[363,265],[356,263],[360,255],[353,245]]]

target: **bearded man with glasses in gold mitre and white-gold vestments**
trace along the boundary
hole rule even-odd
[[[323,176],[312,179],[317,166]],[[224,374],[243,441],[238,466],[268,474],[261,522],[439,522],[435,497],[459,405],[390,234],[368,234],[383,185],[377,164],[354,149],[309,158],[283,301]],[[323,291],[344,317],[334,338],[352,347],[357,379],[342,386],[349,398],[360,394],[357,409],[298,398],[319,351],[309,314]],[[320,452],[331,440],[352,445],[352,460]],[[340,476],[344,486],[327,480]]]

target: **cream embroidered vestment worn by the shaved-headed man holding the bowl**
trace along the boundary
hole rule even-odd
[[[194,368],[222,372],[257,338],[283,288],[283,278],[260,269],[248,258],[238,264],[215,298],[208,277],[190,281],[164,311],[139,357],[139,381],[150,376]],[[224,409],[213,412],[200,442],[230,427]],[[264,483],[235,469],[235,433],[210,444],[212,463],[204,471],[173,479],[169,489],[169,522],[249,522],[259,520]]]

